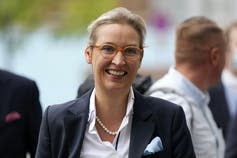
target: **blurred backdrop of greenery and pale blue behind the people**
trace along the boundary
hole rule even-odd
[[[140,73],[154,79],[173,64],[178,23],[204,15],[225,27],[237,19],[235,0],[0,0],[0,68],[35,80],[44,109],[74,99],[91,72],[86,26],[118,6],[146,20]]]

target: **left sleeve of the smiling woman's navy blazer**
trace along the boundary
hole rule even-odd
[[[51,158],[50,134],[48,125],[49,107],[44,112],[43,120],[40,126],[39,141],[35,158]]]

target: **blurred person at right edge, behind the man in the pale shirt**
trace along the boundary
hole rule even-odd
[[[226,131],[230,119],[237,110],[237,22],[231,23],[225,30],[227,40],[226,65],[221,76],[221,82],[209,89],[209,107],[217,125]]]

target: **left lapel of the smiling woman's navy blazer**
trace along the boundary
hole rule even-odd
[[[64,118],[65,151],[62,157],[80,157],[89,113],[91,91],[78,99],[69,109],[70,115]]]

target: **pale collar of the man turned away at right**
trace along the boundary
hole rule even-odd
[[[185,95],[189,96],[194,102],[200,106],[208,105],[210,101],[210,96],[208,92],[201,91],[196,87],[190,80],[188,80],[184,75],[175,70],[173,67],[169,70],[170,79],[174,80],[176,87],[182,91]]]

